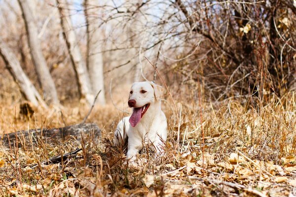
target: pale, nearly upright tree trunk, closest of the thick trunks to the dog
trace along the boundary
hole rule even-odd
[[[98,96],[98,103],[105,105],[105,90],[104,90],[104,71],[103,71],[103,55],[100,53],[101,45],[99,43],[102,39],[102,31],[100,30],[97,15],[99,13],[99,0],[85,0],[85,19],[87,31],[87,67],[89,71],[90,81],[92,85],[93,94],[96,95],[100,90]]]

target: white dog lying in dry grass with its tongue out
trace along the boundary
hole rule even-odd
[[[162,94],[163,88],[153,82],[132,85],[128,105],[133,107],[133,114],[118,123],[113,139],[117,145],[128,137],[127,159],[134,161],[144,144],[152,144],[156,153],[163,151],[167,139],[167,122],[161,110]]]

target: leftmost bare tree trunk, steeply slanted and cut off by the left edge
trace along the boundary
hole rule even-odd
[[[0,56],[3,58],[6,68],[14,78],[14,81],[20,87],[22,95],[32,102],[35,106],[38,106],[38,101],[46,107],[45,102],[41,99],[39,93],[37,92],[34,85],[31,83],[19,61],[13,54],[13,52],[8,48],[8,46],[0,38]]]

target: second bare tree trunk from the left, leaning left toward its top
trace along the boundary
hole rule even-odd
[[[36,67],[39,83],[43,89],[44,99],[49,103],[59,104],[58,94],[53,79],[50,75],[45,58],[42,55],[35,18],[29,5],[30,1],[18,0],[18,2],[23,12],[31,56]]]

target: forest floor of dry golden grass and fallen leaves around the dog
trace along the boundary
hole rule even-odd
[[[96,107],[87,122],[102,130],[100,142],[85,144],[85,151],[64,163],[41,161],[84,145],[72,140],[13,150],[2,147],[0,195],[295,197],[295,99],[290,93],[257,108],[233,99],[201,105],[178,102],[179,123],[173,105],[163,102],[168,121],[165,155],[157,157],[144,149],[133,166],[125,162],[126,147],[112,144],[123,113],[113,105]],[[62,113],[38,108],[25,117],[19,103],[3,100],[0,110],[0,131],[5,134],[81,123],[89,109],[68,103]]]

